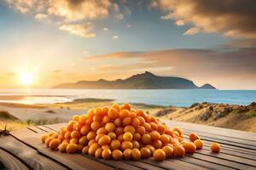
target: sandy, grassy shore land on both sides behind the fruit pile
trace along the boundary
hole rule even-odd
[[[90,108],[113,105],[113,99],[73,99],[73,101],[55,104],[18,104],[0,102],[0,128],[8,123],[8,127],[20,128],[31,125],[67,122],[73,115],[83,114]],[[248,132],[256,132],[256,104],[228,105],[196,103],[189,107],[148,105],[131,103],[136,109],[148,114],[177,122],[192,122],[213,127],[233,128]],[[7,111],[17,120],[3,119],[1,111]]]

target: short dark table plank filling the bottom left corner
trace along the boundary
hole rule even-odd
[[[0,162],[3,163],[3,166],[6,169],[20,169],[20,170],[29,170],[26,165],[24,165],[20,160],[15,156],[12,156],[7,151],[0,149]]]

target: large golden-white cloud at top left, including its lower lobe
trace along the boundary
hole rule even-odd
[[[96,37],[91,26],[82,26],[89,20],[108,18],[109,14],[119,14],[119,5],[112,0],[4,0],[10,8],[22,14],[31,13],[35,19],[48,19],[62,31],[81,37]],[[110,10],[113,10],[110,12]],[[61,26],[60,26],[61,25]]]

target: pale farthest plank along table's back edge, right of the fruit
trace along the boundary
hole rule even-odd
[[[175,122],[175,121],[170,121],[166,119],[162,119],[162,121],[166,122],[168,127],[181,127],[181,128],[189,129],[191,131],[207,132],[207,133],[218,134],[218,135],[222,135],[230,138],[248,139],[256,142],[256,133],[250,133],[250,132],[244,132],[239,130],[220,128],[220,127],[210,127],[210,126],[198,125],[190,122]]]

